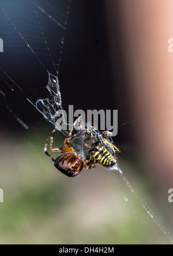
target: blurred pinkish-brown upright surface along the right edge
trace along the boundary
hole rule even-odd
[[[117,42],[127,82],[121,86],[129,105],[119,105],[126,104],[134,118],[144,117],[133,124],[134,142],[167,193],[173,187],[173,1],[110,0],[105,6],[114,84]]]

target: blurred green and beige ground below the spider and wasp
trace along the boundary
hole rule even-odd
[[[30,132],[27,139],[5,131],[1,136],[1,244],[168,243],[118,173],[97,166],[70,179],[43,153],[47,131]],[[56,139],[61,146],[58,133]],[[121,166],[149,198],[152,182],[136,172],[140,163],[130,161],[121,157]]]

